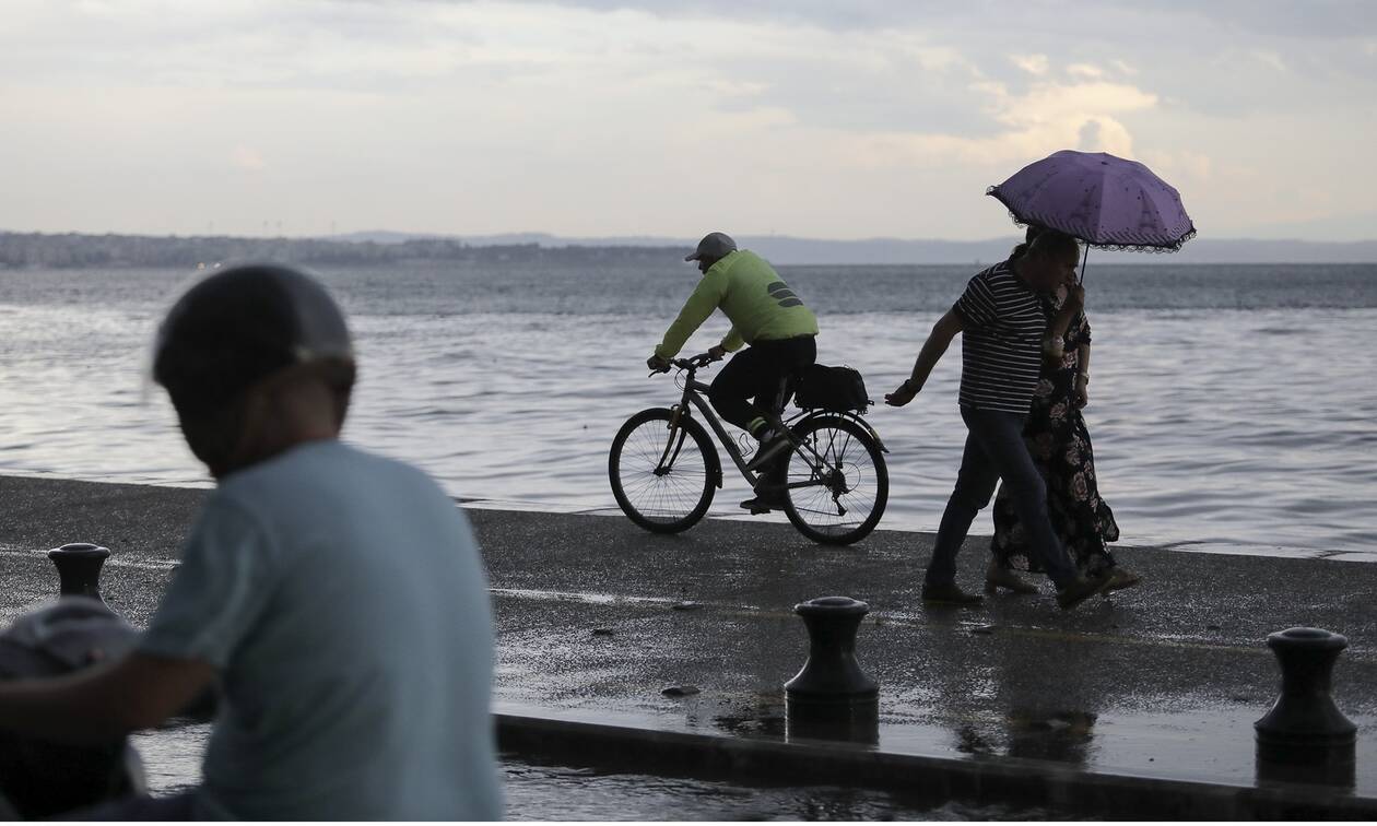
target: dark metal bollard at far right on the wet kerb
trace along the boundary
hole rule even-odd
[[[1351,785],[1358,727],[1330,695],[1343,635],[1287,628],[1267,635],[1282,669],[1282,692],[1257,731],[1259,776]]]

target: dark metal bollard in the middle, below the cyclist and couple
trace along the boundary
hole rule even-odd
[[[876,742],[880,686],[856,662],[856,631],[870,606],[850,596],[799,603],[808,659],[784,684],[786,737]]]

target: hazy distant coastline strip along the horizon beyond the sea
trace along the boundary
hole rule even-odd
[[[777,264],[978,264],[1001,260],[1016,238],[936,241],[870,238],[828,241],[788,235],[742,235],[738,242]],[[194,268],[231,260],[282,260],[317,266],[377,266],[414,262],[474,264],[589,262],[664,264],[693,248],[688,238],[562,238],[538,233],[446,237],[353,233],[324,238],[233,235],[94,235],[0,231],[0,270],[77,267]],[[1321,242],[1197,238],[1181,252],[1091,253],[1093,263],[1133,264],[1373,264],[1377,241]]]

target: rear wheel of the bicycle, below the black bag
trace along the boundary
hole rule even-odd
[[[799,533],[826,545],[865,538],[884,515],[890,471],[870,432],[843,416],[806,421],[785,468],[785,515]]]

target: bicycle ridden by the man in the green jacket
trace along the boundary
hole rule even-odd
[[[683,396],[671,407],[650,407],[621,425],[611,442],[607,475],[613,496],[627,516],[654,533],[680,533],[698,523],[723,485],[722,457],[694,409],[712,428],[741,476],[757,487],[760,475],[748,469],[738,449],[704,398],[708,385],[695,374],[713,359],[673,359],[683,376]],[[666,370],[668,372],[668,370]],[[808,409],[782,419],[792,395],[781,383],[775,409],[766,420],[788,435],[788,457],[761,474],[782,478],[784,512],[799,533],[815,542],[850,545],[865,538],[884,515],[890,497],[888,449],[856,412]],[[782,447],[779,449],[782,453]]]

